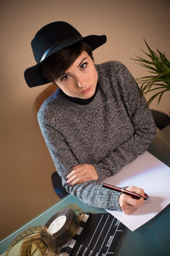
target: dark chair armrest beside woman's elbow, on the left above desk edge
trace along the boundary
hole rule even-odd
[[[59,196],[59,198],[63,198],[65,195],[68,195],[65,188],[62,186],[61,177],[59,177],[57,172],[52,173],[51,180],[53,183],[54,191]]]

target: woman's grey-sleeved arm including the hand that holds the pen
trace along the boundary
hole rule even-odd
[[[67,148],[66,143],[64,143],[64,138],[59,134],[57,135],[56,131],[54,131],[54,128],[50,127],[49,125],[45,125],[44,123],[42,124],[40,120],[39,124],[42,129],[44,139],[48,145],[49,152],[54,160],[54,165],[56,166],[57,172],[59,172],[59,175],[62,178],[62,183],[69,193],[71,193],[72,195],[76,195],[77,197],[79,197],[80,200],[90,206],[104,208],[108,210],[122,210],[127,214],[135,211],[140,205],[144,203],[143,198],[138,201],[134,200],[127,195],[121,195],[116,191],[105,189],[100,183],[95,181],[78,183],[73,186],[69,185],[66,181],[66,177],[68,176],[68,170],[71,167],[68,166],[68,169],[66,169],[61,161],[59,161],[59,159],[61,159],[61,152],[63,150],[65,152],[65,160],[63,160],[65,161],[65,165],[66,159],[68,158],[70,160],[72,158],[72,163],[76,162],[77,160],[74,159],[70,149]],[[56,148],[56,146],[54,145],[55,143],[59,143],[61,145],[61,152],[59,152],[59,150]],[[69,156],[69,154],[71,155]],[[141,195],[144,194],[142,193],[144,192],[143,189],[139,189],[136,187],[133,187],[132,189],[133,192],[136,191]]]

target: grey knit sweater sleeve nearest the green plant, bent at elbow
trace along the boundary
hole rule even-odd
[[[124,108],[133,125],[133,136],[118,145],[104,160],[94,165],[99,173],[99,180],[105,178],[103,173],[108,172],[109,176],[108,170],[110,175],[113,175],[135,160],[139,154],[147,150],[156,137],[156,125],[150,109],[145,107],[146,102],[144,97],[141,97],[139,86],[127,67],[120,62],[117,62],[117,79]]]

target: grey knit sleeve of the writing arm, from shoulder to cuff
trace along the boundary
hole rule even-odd
[[[42,136],[54,161],[54,166],[67,192],[71,193],[71,195],[76,195],[81,201],[90,206],[121,211],[118,202],[120,193],[103,188],[99,182],[91,181],[74,186],[69,186],[66,183],[66,176],[71,172],[71,166],[77,166],[80,163],[71,152],[65,137],[59,131],[56,131],[54,127],[44,122],[40,112],[38,113],[38,122]]]

